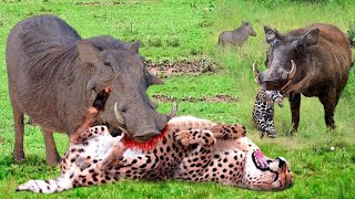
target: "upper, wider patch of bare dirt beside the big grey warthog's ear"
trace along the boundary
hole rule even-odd
[[[154,63],[146,61],[145,65],[151,74],[160,77],[181,74],[201,75],[206,73],[216,73],[219,65],[210,59],[191,60],[191,61],[163,61],[162,63]]]

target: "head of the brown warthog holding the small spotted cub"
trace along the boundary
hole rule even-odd
[[[318,42],[320,30],[312,29],[284,35],[268,27],[264,27],[264,31],[271,48],[266,51],[266,71],[260,73],[256,64],[253,64],[255,81],[267,91],[287,90],[296,74],[304,73],[305,69],[297,69],[296,63],[301,65],[305,62],[307,49]]]

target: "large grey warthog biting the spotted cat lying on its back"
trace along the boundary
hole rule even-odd
[[[104,87],[111,87],[112,95],[100,119],[112,133],[124,130],[135,140],[151,139],[175,112],[160,114],[149,100],[148,87],[163,82],[143,65],[139,42],[112,36],[83,40],[53,15],[26,19],[11,30],[7,67],[17,161],[24,158],[23,114],[41,127],[47,164],[54,165],[59,156],[52,133],[73,132]]]

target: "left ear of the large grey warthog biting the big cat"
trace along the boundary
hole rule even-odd
[[[91,43],[88,43],[85,41],[79,41],[77,42],[79,56],[82,62],[87,63],[98,63],[100,52],[99,50],[93,46]]]

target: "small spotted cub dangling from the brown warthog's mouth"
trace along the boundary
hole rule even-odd
[[[285,96],[285,92],[265,91],[262,87],[256,92],[253,106],[253,122],[260,132],[261,138],[263,138],[265,134],[271,138],[276,137],[274,104],[276,103],[280,107],[283,107],[283,100]]]

